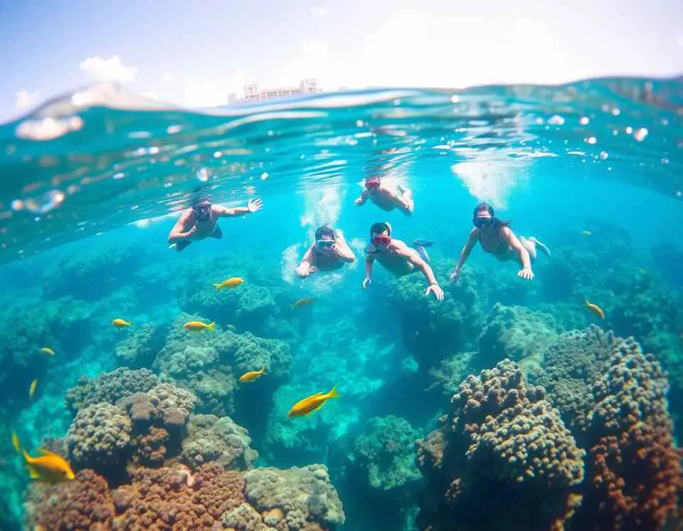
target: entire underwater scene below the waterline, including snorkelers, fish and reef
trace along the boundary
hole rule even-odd
[[[0,125],[2,530],[680,530],[683,83]]]

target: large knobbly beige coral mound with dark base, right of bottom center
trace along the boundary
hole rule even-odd
[[[428,490],[418,526],[561,528],[578,501],[572,488],[583,479],[583,455],[543,389],[526,384],[519,366],[505,359],[462,382],[440,431],[419,443]],[[538,500],[542,507],[530,511]]]

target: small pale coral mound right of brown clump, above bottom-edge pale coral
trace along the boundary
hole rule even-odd
[[[216,461],[225,468],[245,470],[258,457],[250,448],[247,431],[224,416],[196,414],[190,417],[188,436],[183,441],[181,461],[191,469]]]

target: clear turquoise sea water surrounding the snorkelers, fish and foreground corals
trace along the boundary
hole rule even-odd
[[[21,528],[30,490],[12,431],[31,455],[41,441],[65,437],[75,415],[68,389],[117,367],[150,369],[189,389],[199,399],[194,414],[230,416],[248,430],[256,470],[326,465],[346,515],[339,528],[349,530],[426,529],[415,514],[438,495],[415,465],[413,443],[437,429],[458,384],[504,357],[532,380],[549,370],[549,345],[591,324],[634,337],[667,369],[675,435],[682,110],[679,80],[372,90],[202,112],[100,85],[0,126],[0,445],[11,485],[3,526]],[[412,216],[354,205],[377,173],[411,189]],[[169,250],[168,233],[199,190],[230,207],[257,197],[264,206],[221,219],[222,240]],[[549,246],[533,280],[477,246],[450,285],[479,201],[512,220],[518,236]],[[443,301],[423,296],[420,273],[396,279],[377,263],[361,288],[376,221],[389,221],[406,243],[434,242]],[[356,261],[297,278],[326,223],[344,231]],[[216,292],[213,283],[233,276],[245,283]],[[300,298],[317,300],[292,309]],[[180,325],[191,317],[216,330],[188,336]],[[115,330],[115,318],[133,324]],[[242,350],[228,356],[220,342]],[[268,374],[238,384],[262,362]],[[332,387],[339,399],[287,418],[295,402]],[[453,463],[466,461],[465,450]],[[166,465],[176,457],[172,448],[166,457]],[[126,458],[92,468],[112,489],[129,481]]]

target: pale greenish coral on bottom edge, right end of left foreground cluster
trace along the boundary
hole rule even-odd
[[[244,478],[248,502],[261,512],[281,510],[284,530],[333,530],[344,523],[342,502],[329,483],[325,466],[254,468],[245,472]]]

